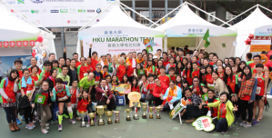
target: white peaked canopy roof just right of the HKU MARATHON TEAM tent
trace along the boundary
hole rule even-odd
[[[182,5],[176,16],[161,25],[167,37],[203,36],[209,29],[210,36],[236,36],[236,32],[213,25],[196,15],[187,4]]]

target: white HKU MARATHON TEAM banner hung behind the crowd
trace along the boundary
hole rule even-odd
[[[83,39],[84,56],[89,55],[90,44],[93,44],[92,52],[96,51],[98,57],[102,54],[111,54],[118,59],[121,53],[142,53],[148,49],[156,55],[157,49],[162,49],[161,37],[93,37]],[[152,48],[151,48],[152,47]]]

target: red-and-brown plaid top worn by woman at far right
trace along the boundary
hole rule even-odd
[[[255,74],[252,74],[252,77],[249,80],[246,80],[246,75],[244,75],[241,81],[241,88],[240,88],[240,92],[238,93],[238,97],[244,97],[245,94],[251,95],[254,84],[255,84]]]

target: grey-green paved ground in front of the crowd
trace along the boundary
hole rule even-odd
[[[270,90],[270,88],[268,89]],[[272,105],[272,99],[268,99],[268,102]],[[135,137],[193,137],[193,138],[213,138],[213,137],[254,137],[254,138],[271,138],[271,124],[272,124],[272,109],[264,113],[264,118],[257,126],[250,128],[242,128],[237,124],[232,124],[232,128],[229,133],[222,135],[215,131],[206,133],[203,131],[196,131],[191,125],[185,123],[179,123],[178,118],[173,121],[170,120],[168,112],[161,114],[161,119],[142,119],[133,120],[127,122],[125,120],[124,110],[128,106],[118,106],[117,110],[121,111],[120,123],[107,124],[104,126],[92,126],[88,128],[81,128],[80,122],[76,121],[76,124],[71,124],[68,119],[64,119],[62,132],[57,132],[57,123],[50,125],[48,134],[40,132],[40,127],[37,126],[34,130],[26,130],[25,123],[19,125],[21,131],[12,133],[9,131],[8,125],[5,120],[5,111],[0,108],[0,138],[80,138],[80,137],[93,137],[93,138],[135,138]],[[140,115],[141,113],[138,113]],[[107,120],[106,115],[103,116],[104,120]],[[114,117],[112,116],[112,119]],[[239,121],[240,123],[241,121]],[[38,123],[36,123],[38,124]]]

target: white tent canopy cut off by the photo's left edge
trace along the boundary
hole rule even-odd
[[[24,22],[6,9],[2,2],[0,2],[0,18],[0,41],[36,40],[37,36],[42,35],[44,39],[48,40],[47,45],[50,53],[55,53],[54,34]]]

